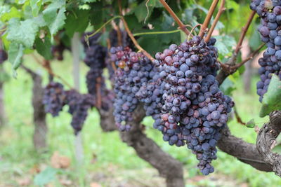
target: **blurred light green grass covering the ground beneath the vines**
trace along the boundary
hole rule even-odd
[[[55,72],[72,84],[72,66],[70,55],[65,54],[64,62],[53,62]],[[46,72],[35,64],[30,56],[25,57],[25,65],[37,70],[44,76],[44,84],[48,80]],[[11,65],[6,63],[5,69]],[[84,75],[87,67],[81,64],[81,92],[86,92]],[[253,82],[258,80],[254,78]],[[255,85],[251,94],[242,89],[242,81],[235,83],[237,90],[233,92],[238,113],[244,122],[254,118],[259,127],[267,118],[259,118],[259,99],[255,94]],[[147,162],[138,158],[133,148],[126,146],[119,138],[118,132],[102,132],[99,126],[98,112],[94,109],[84,124],[82,131],[84,146],[84,165],[75,162],[74,135],[70,126],[71,116],[65,108],[58,118],[48,115],[48,148],[37,153],[32,145],[34,125],[32,123],[32,81],[29,75],[18,70],[18,78],[11,78],[4,86],[4,102],[7,113],[7,124],[0,134],[0,186],[20,186],[21,179],[29,179],[27,186],[35,186],[34,170],[43,171],[51,165],[51,155],[58,151],[72,160],[69,168],[58,172],[53,186],[62,186],[62,180],[71,181],[70,186],[89,186],[91,182],[101,186],[164,186],[164,179]],[[218,159],[213,164],[216,169],[210,176],[202,176],[198,172],[197,160],[185,147],[169,146],[162,141],[161,134],[152,129],[152,118],[145,118],[148,137],[174,158],[184,164],[187,186],[280,186],[281,179],[273,173],[259,172],[226,153],[218,151]],[[256,140],[254,129],[244,127],[231,120],[230,130],[237,137],[250,143]],[[60,182],[58,182],[60,180]]]

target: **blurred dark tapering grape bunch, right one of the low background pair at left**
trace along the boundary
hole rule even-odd
[[[80,94],[76,90],[68,90],[65,95],[69,106],[68,112],[72,114],[71,126],[74,129],[74,134],[77,135],[88,116],[88,109],[95,106],[95,99],[90,94]]]

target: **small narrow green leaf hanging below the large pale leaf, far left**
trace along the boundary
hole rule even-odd
[[[21,43],[12,42],[9,46],[8,61],[13,64],[14,70],[16,70],[16,69],[18,69],[18,67],[20,67],[24,49],[25,48],[24,48],[24,46],[22,46]],[[14,72],[14,76],[16,76],[15,72]]]

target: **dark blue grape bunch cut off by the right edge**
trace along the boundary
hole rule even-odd
[[[281,1],[252,0],[250,8],[261,18],[258,31],[261,41],[267,46],[263,57],[259,59],[261,81],[256,84],[259,101],[262,102],[272,75],[276,74],[281,78]]]

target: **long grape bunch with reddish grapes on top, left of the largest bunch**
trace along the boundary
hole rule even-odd
[[[128,122],[132,120],[132,112],[136,109],[138,99],[136,92],[143,83],[153,76],[152,63],[143,53],[136,53],[129,47],[113,47],[110,50],[111,60],[118,67],[115,71],[115,123],[119,130],[129,130]]]

